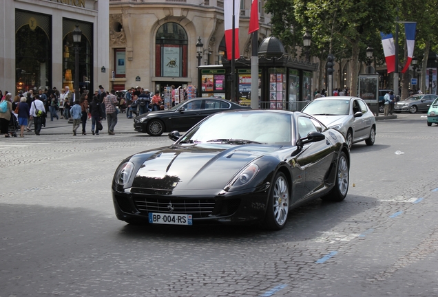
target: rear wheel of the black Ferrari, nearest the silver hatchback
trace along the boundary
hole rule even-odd
[[[327,195],[321,197],[323,201],[340,202],[345,199],[350,182],[350,164],[344,152],[340,153],[337,160],[335,186]]]

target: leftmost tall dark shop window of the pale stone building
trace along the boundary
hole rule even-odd
[[[21,90],[52,87],[52,18],[15,12],[15,82]]]

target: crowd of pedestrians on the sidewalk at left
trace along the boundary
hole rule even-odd
[[[145,93],[145,92],[144,92]],[[91,120],[91,132],[99,135],[102,129],[102,120],[107,121],[108,134],[114,135],[114,127],[117,124],[117,115],[123,109],[123,104],[127,104],[132,117],[132,113],[143,113],[149,109],[143,107],[138,102],[121,102],[123,98],[116,97],[116,91],[110,92],[100,85],[99,89],[90,94],[90,91],[82,88],[79,92],[80,97],[75,98],[75,90],[70,90],[65,86],[60,91],[53,88],[27,89],[19,91],[13,96],[9,91],[5,94],[0,90],[0,134],[10,137],[10,125],[17,122],[20,137],[24,137],[25,131],[40,135],[41,129],[45,126],[50,113],[50,121],[61,119],[72,119],[72,134],[76,136],[76,131],[81,126],[82,135],[87,135],[87,120]],[[143,101],[144,95],[140,94]],[[127,100],[126,100],[127,101]],[[3,108],[4,107],[4,108]],[[128,114],[128,113],[127,113]],[[12,118],[14,117],[14,118]],[[98,129],[101,128],[101,129]]]

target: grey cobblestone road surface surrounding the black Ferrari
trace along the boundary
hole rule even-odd
[[[118,162],[167,137],[2,139],[0,297],[438,296],[437,134],[421,115],[377,122],[346,200],[295,209],[280,232],[118,221]]]

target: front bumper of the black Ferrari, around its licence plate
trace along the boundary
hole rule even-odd
[[[196,192],[196,191],[194,191]],[[117,219],[127,222],[149,222],[149,212],[191,214],[193,224],[256,223],[264,219],[269,190],[260,192],[218,192],[217,195],[163,195],[118,192],[112,189]],[[173,208],[169,210],[170,205]]]

